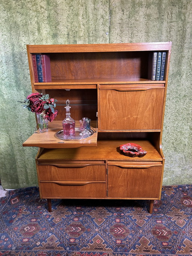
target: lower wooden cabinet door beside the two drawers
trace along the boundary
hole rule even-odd
[[[159,199],[161,162],[108,162],[108,197]]]

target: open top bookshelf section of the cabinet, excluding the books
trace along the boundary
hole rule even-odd
[[[151,51],[166,51],[171,42],[134,44],[27,45],[34,89],[96,88],[97,84],[151,83],[148,57]],[[32,54],[48,54],[51,81],[34,83]],[[167,62],[169,63],[169,62]],[[167,68],[166,68],[167,69]],[[165,80],[166,80],[165,72]],[[153,83],[165,83],[153,81]],[[69,88],[71,89],[71,88]]]

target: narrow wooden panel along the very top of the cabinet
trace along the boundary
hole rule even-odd
[[[122,44],[60,44],[27,45],[29,53],[76,53],[113,51],[168,51],[172,42],[122,43]]]

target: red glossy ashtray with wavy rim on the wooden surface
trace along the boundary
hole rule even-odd
[[[142,150],[141,146],[135,143],[120,145],[120,150],[122,150],[123,154],[127,157],[144,157],[144,155],[147,154],[147,151]]]

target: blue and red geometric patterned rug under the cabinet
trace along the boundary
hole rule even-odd
[[[192,254],[192,185],[164,186],[147,200],[52,200],[38,187],[0,199],[0,256],[187,256]]]

